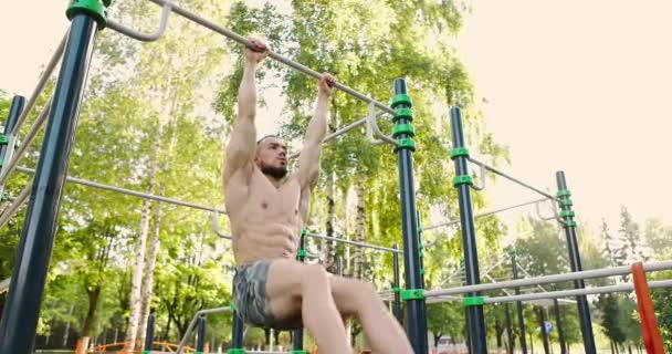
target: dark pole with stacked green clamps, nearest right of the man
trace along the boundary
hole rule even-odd
[[[427,305],[422,289],[421,264],[419,257],[419,236],[416,209],[416,187],[413,184],[413,155],[416,143],[412,137],[411,100],[408,96],[406,81],[395,80],[395,132],[397,139],[395,152],[399,165],[399,186],[401,195],[401,231],[403,236],[403,275],[406,289],[402,300],[406,302],[406,331],[414,353],[428,352],[427,342]]]

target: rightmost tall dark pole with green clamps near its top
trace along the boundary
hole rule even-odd
[[[582,270],[581,257],[579,254],[579,244],[576,237],[576,221],[574,220],[575,214],[571,210],[571,194],[567,189],[567,181],[565,179],[564,171],[560,170],[556,173],[556,181],[558,184],[558,204],[560,205],[561,209],[560,218],[563,219],[563,227],[565,228],[565,236],[567,237],[567,248],[569,249],[569,264],[573,272],[578,272]],[[584,280],[575,280],[574,288],[586,288]],[[576,302],[579,310],[581,336],[584,337],[584,350],[586,351],[586,354],[596,354],[597,348],[595,346],[595,335],[592,333],[592,322],[590,321],[590,308],[588,305],[588,299],[586,295],[576,296]]]

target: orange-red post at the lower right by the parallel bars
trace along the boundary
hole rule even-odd
[[[653,302],[649,292],[649,283],[647,282],[647,273],[642,263],[632,264],[632,283],[637,293],[637,306],[639,309],[639,317],[642,322],[642,337],[644,346],[649,354],[664,354],[663,340],[660,336],[658,321],[653,312]]]

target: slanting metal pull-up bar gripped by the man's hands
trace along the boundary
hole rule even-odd
[[[154,3],[160,4],[160,6],[164,6],[169,0],[150,0],[150,1],[154,2]],[[186,19],[189,19],[189,20],[191,20],[191,21],[193,21],[193,22],[196,22],[196,23],[198,23],[198,24],[200,24],[200,25],[202,25],[202,27],[204,27],[204,28],[207,28],[207,29],[209,29],[209,30],[211,30],[213,32],[222,34],[222,35],[224,35],[224,37],[227,37],[227,38],[229,38],[229,39],[231,39],[231,40],[233,40],[233,41],[235,41],[238,43],[241,43],[243,45],[251,46],[250,41],[248,41],[242,35],[240,35],[240,34],[238,34],[235,32],[232,32],[232,31],[230,31],[228,29],[224,29],[221,25],[219,25],[219,24],[217,24],[217,23],[214,23],[214,22],[212,22],[210,20],[203,19],[203,18],[201,18],[200,15],[198,15],[198,14],[196,14],[193,12],[190,12],[190,11],[188,11],[186,9],[180,8],[179,6],[175,6],[174,4],[172,8],[171,8],[171,10],[172,10],[172,12],[175,12],[175,13],[177,13],[177,14],[186,18]],[[282,55],[280,55],[277,53],[270,52],[269,56],[272,58],[272,59],[274,59],[274,60],[276,60],[276,61],[279,61],[279,62],[281,62],[281,63],[283,63],[283,64],[285,64],[285,65],[287,65],[287,66],[290,66],[290,67],[292,67],[292,69],[294,69],[294,70],[296,70],[296,71],[298,71],[298,72],[302,72],[302,73],[304,73],[304,74],[306,74],[308,76],[312,76],[312,77],[315,77],[315,79],[318,79],[318,80],[322,77],[321,73],[318,73],[316,71],[313,71],[309,67],[307,67],[307,66],[305,66],[305,65],[303,65],[301,63],[297,63],[297,62],[295,62],[293,60],[290,60],[290,59],[287,59],[285,56],[282,56]],[[348,86],[346,86],[344,84],[340,84],[340,83],[337,82],[337,83],[335,83],[334,86],[336,88],[338,88],[338,90],[340,90],[340,91],[343,91],[343,92],[351,95],[353,97],[355,97],[355,98],[357,98],[359,101],[367,102],[367,103],[368,102],[374,102],[374,104],[376,104],[376,107],[378,107],[378,108],[380,108],[380,110],[382,110],[382,111],[385,111],[387,113],[390,113],[390,114],[395,113],[390,107],[384,105],[382,103],[380,103],[380,102],[378,102],[376,100],[372,100],[372,98],[366,96],[365,94],[363,94],[360,92],[357,92],[357,91],[355,91],[355,90],[353,90],[353,88],[350,88],[350,87],[348,87]]]

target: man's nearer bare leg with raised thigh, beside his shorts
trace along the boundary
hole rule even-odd
[[[266,295],[279,319],[292,317],[301,311],[303,324],[317,341],[319,353],[350,352],[329,279],[322,266],[305,266],[290,259],[273,261]]]

